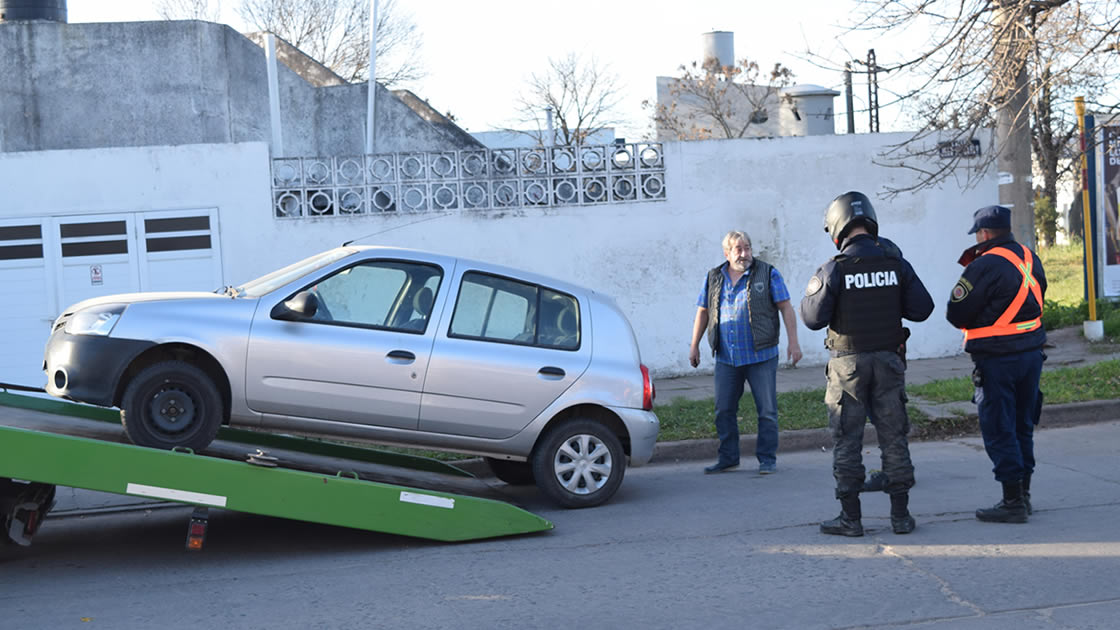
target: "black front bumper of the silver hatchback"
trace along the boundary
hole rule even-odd
[[[97,335],[72,335],[55,331],[47,341],[43,370],[47,393],[67,400],[112,407],[116,383],[124,369],[150,341]]]

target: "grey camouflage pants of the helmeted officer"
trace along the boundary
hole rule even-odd
[[[906,367],[889,351],[836,356],[825,368],[832,475],[837,498],[855,495],[864,484],[864,426],[869,418],[879,438],[887,493],[906,492],[914,485],[911,463],[909,418],[906,416]]]

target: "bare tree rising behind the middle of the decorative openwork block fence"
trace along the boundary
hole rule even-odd
[[[533,74],[519,98],[517,122],[534,129],[508,129],[532,136],[538,145],[573,146],[608,127],[622,124],[618,105],[622,81],[597,59],[582,59],[575,53],[550,58],[549,67]],[[547,138],[551,111],[554,138]]]

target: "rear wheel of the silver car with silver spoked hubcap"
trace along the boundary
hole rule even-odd
[[[536,485],[564,508],[604,503],[623,482],[622,442],[596,420],[576,418],[550,429],[532,456]]]

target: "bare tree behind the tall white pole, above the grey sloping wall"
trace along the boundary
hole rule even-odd
[[[188,1],[188,0],[179,0]],[[206,0],[195,0],[203,1]],[[236,0],[245,24],[286,39],[346,81],[370,76],[370,0]],[[392,86],[424,76],[420,34],[395,0],[377,8],[377,82]]]

